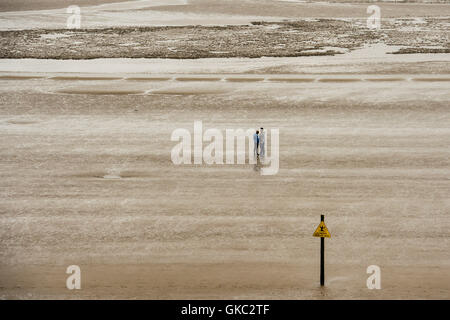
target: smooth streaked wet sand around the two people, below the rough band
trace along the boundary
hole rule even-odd
[[[0,65],[2,298],[450,297],[448,76],[53,63]],[[195,120],[279,128],[279,173],[173,165],[171,132]],[[332,234],[325,289],[320,214]],[[71,264],[80,291],[65,288]],[[382,290],[366,288],[371,264]]]

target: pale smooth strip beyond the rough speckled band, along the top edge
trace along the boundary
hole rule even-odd
[[[41,0],[45,1],[45,0]],[[91,0],[89,0],[91,1]],[[95,4],[96,0],[92,0]],[[99,3],[101,0],[98,0]],[[103,2],[103,1],[102,1]],[[109,1],[108,1],[109,2]],[[112,1],[111,1],[112,2]],[[23,3],[23,2],[22,2]],[[33,1],[34,3],[34,1]],[[22,29],[64,29],[69,14],[65,8],[51,9],[49,5],[33,5],[33,11],[0,12],[0,30]],[[66,3],[66,2],[64,2]],[[89,3],[80,2],[80,5]],[[289,3],[279,1],[200,1],[184,0],[142,0],[124,3],[103,4],[82,8],[82,28],[125,27],[125,26],[181,26],[181,25],[242,25],[252,21],[281,21],[299,18],[360,18],[368,17],[367,3]],[[11,9],[21,8],[20,2]],[[72,5],[70,3],[68,5]],[[68,6],[67,5],[67,6]],[[406,3],[401,6],[390,3],[377,4],[383,10],[383,18],[393,17],[436,17],[448,11],[445,4]],[[61,5],[58,5],[61,7]],[[0,7],[1,8],[1,7]]]

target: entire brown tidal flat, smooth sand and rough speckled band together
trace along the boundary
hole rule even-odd
[[[448,5],[0,8],[45,3],[0,17],[0,298],[450,298]],[[279,172],[175,165],[194,121],[278,129]]]

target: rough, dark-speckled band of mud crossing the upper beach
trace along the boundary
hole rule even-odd
[[[337,19],[253,22],[241,26],[0,31],[0,58],[333,56],[380,42],[396,46],[392,54],[450,53],[446,36],[449,20],[391,19],[377,31],[368,29],[365,21]]]

